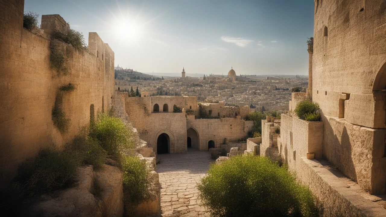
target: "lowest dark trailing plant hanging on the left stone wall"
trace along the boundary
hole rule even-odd
[[[55,105],[51,112],[52,121],[58,127],[61,133],[68,132],[70,119],[66,118],[66,113],[63,111],[62,95],[59,93],[55,98]]]

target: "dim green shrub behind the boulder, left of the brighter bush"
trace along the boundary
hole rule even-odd
[[[84,134],[76,136],[68,148],[82,164],[91,164],[95,169],[105,164],[107,152],[103,150],[98,141],[87,138]]]

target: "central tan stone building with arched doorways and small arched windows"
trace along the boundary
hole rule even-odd
[[[223,109],[221,115],[225,117],[201,119],[196,118],[199,110],[196,97],[128,97],[125,93],[120,94],[125,95],[126,112],[140,138],[158,154],[185,153],[188,147],[208,151],[220,147],[224,141],[244,138],[253,125],[253,121],[245,121],[239,114],[234,114],[233,108],[229,108],[232,113],[227,112],[223,103],[209,107]],[[182,112],[173,112],[174,105],[182,108]],[[186,113],[186,110],[191,112]],[[246,115],[249,111],[245,112]]]

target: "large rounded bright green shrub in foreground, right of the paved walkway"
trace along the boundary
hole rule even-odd
[[[212,216],[318,216],[310,190],[286,166],[261,156],[212,164],[197,187]]]

